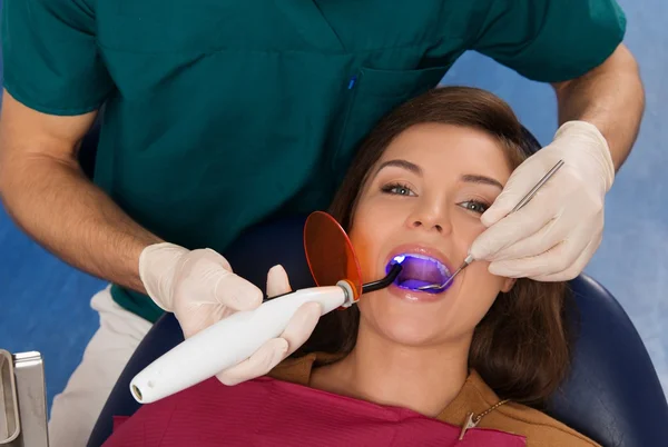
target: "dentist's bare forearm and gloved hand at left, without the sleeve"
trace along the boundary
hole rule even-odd
[[[259,306],[262,291],[235,275],[223,256],[163,242],[84,176],[77,149],[95,116],[49,116],[4,93],[0,197],[17,224],[76,268],[147,292],[175,314],[186,337]],[[282,268],[269,272],[267,289],[289,290]],[[299,308],[281,337],[218,378],[234,385],[265,375],[310,337],[320,312],[313,304]]]

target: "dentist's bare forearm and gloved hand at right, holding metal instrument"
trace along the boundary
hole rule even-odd
[[[578,276],[598,249],[605,197],[638,135],[645,97],[633,57],[620,44],[599,67],[554,86],[561,127],[527,159],[482,216],[471,247],[490,272],[562,281]],[[558,160],[564,166],[522,210],[507,216]]]

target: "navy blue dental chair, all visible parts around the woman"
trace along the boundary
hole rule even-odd
[[[266,272],[282,264],[293,288],[313,286],[302,249],[303,218],[256,227],[225,256],[235,271],[264,290]],[[593,279],[571,281],[579,320],[573,370],[554,396],[550,414],[606,447],[666,445],[668,404],[647,350],[617,300]],[[129,393],[131,378],[183,341],[178,322],[165,315],[139,345],[122,371],[95,427],[89,447],[111,433],[114,416],[138,408]]]

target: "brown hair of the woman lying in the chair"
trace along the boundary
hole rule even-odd
[[[484,90],[445,87],[431,90],[383,118],[363,141],[330,212],[347,231],[372,168],[401,132],[420,123],[445,123],[487,132],[499,141],[514,169],[534,150],[512,109]],[[569,369],[566,325],[567,285],[518,279],[500,294],[477,326],[469,366],[502,398],[543,408]],[[321,319],[299,354],[348,354],[355,346],[356,306]]]

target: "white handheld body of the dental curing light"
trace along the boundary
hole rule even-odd
[[[209,326],[141,370],[130,383],[130,393],[140,404],[149,404],[181,391],[239,364],[262,345],[278,337],[299,306],[320,302],[325,315],[353,302],[347,281],[336,286],[312,287],[239,311]]]

